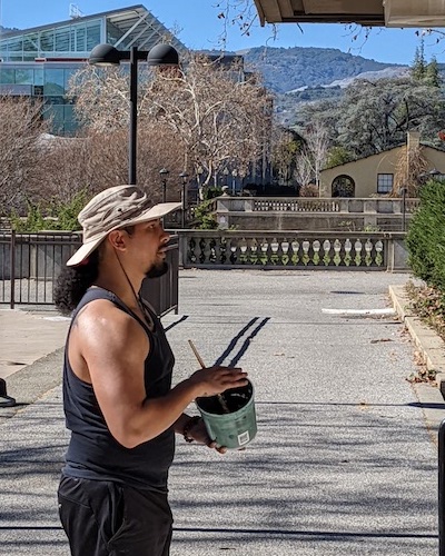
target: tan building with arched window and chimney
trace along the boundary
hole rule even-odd
[[[422,145],[419,133],[409,132],[407,148],[416,147],[421,147],[427,170],[445,175],[444,151]],[[405,146],[322,170],[319,196],[366,198],[388,195],[393,190],[400,156],[406,156]]]

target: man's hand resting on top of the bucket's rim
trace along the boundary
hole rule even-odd
[[[247,386],[247,373],[239,368],[210,367],[197,370],[189,381],[197,387],[197,398],[216,396],[230,388]]]

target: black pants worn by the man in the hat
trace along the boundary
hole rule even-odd
[[[72,556],[168,556],[167,494],[62,476],[59,515]]]

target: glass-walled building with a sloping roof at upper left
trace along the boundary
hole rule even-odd
[[[44,118],[53,132],[76,130],[72,100],[67,97],[70,77],[102,42],[119,50],[137,46],[150,50],[169,42],[179,52],[187,48],[144,6],[79,17],[0,34],[0,95],[30,96],[44,102]]]

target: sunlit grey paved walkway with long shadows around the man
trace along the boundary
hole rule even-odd
[[[414,346],[397,318],[364,311],[390,307],[388,286],[407,279],[181,272],[180,314],[164,319],[175,379],[198,368],[189,338],[208,365],[243,366],[258,435],[226,456],[178,441],[171,556],[437,554],[443,398],[406,380]],[[1,328],[3,340],[9,331]],[[40,341],[39,326],[31,337]],[[46,357],[7,379],[22,405],[0,409],[0,556],[69,555],[55,496],[67,443],[60,345],[51,340]]]

